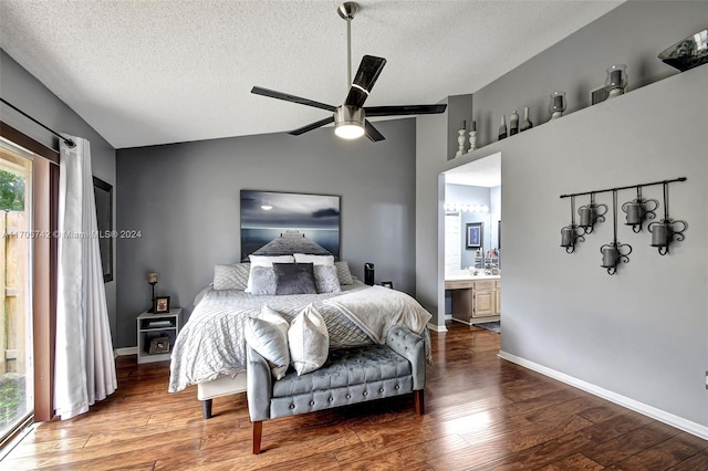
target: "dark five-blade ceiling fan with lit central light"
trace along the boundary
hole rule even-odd
[[[358,4],[355,2],[345,2],[342,3],[336,11],[342,19],[346,20],[347,86],[350,92],[346,95],[344,104],[340,106],[332,106],[326,103],[315,102],[313,100],[277,92],[274,90],[262,88],[260,86],[254,86],[251,90],[251,93],[257,95],[313,106],[332,113],[332,116],[310,123],[309,125],[299,127],[298,129],[293,129],[290,134],[299,136],[334,123],[334,133],[342,138],[356,139],[366,134],[366,137],[368,137],[369,140],[378,142],[384,140],[385,137],[374,127],[374,125],[369,123],[368,119],[366,119],[367,117],[423,115],[445,112],[447,105],[364,107],[364,103],[374,87],[381,71],[384,69],[384,65],[386,65],[386,60],[374,55],[364,55],[358,66],[358,71],[356,71],[356,75],[354,76],[354,82],[352,82],[352,20],[358,11]]]

